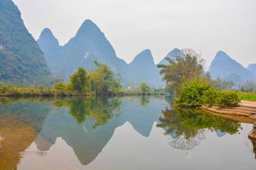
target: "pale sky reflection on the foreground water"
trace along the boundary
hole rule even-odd
[[[128,122],[115,129],[101,153],[87,166],[79,163],[73,148],[58,137],[46,155],[25,155],[18,169],[204,170],[208,167],[209,170],[250,170],[256,166],[254,154],[248,150],[248,146],[243,145],[245,142],[251,144],[243,135],[226,135],[220,140],[214,132],[205,131],[206,137],[199,146],[192,150],[177,150],[168,145],[169,137],[156,124],[149,137],[137,133]],[[244,127],[246,124],[242,125]],[[26,152],[36,150],[33,143]]]

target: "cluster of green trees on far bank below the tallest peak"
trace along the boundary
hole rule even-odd
[[[111,71],[108,66],[102,63],[94,62],[97,68],[88,72],[84,68],[78,68],[74,75],[70,76],[70,83],[56,83],[52,88],[58,91],[76,91],[80,94],[113,94],[122,89],[119,82],[119,75]]]

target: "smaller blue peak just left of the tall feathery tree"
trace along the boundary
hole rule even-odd
[[[147,82],[151,86],[163,84],[150,50],[143,50],[128,64],[128,75],[136,85],[141,82]]]

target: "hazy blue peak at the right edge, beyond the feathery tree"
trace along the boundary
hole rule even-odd
[[[245,81],[256,81],[256,76],[244,68],[240,63],[231,59],[223,51],[218,51],[210,64],[209,72],[213,79],[218,77],[233,81],[236,85],[240,85]]]

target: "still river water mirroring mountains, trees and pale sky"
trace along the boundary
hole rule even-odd
[[[253,124],[175,110],[168,97],[0,104],[0,170],[256,169]]]

